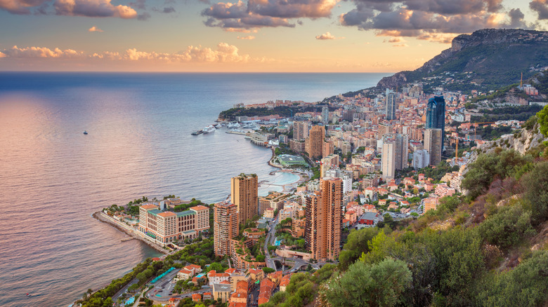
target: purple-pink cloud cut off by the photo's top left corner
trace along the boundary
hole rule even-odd
[[[130,6],[114,6],[111,0],[53,0],[56,15],[87,17],[136,18],[137,12]],[[51,0],[0,0],[0,9],[14,14],[43,14]]]

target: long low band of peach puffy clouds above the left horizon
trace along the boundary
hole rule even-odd
[[[91,55],[83,51],[60,48],[13,46],[0,50],[0,57],[6,58],[34,58],[34,59],[60,59],[72,58],[79,60],[116,60],[116,61],[155,61],[155,62],[261,62],[265,59],[253,59],[249,55],[241,55],[240,50],[228,43],[218,43],[216,49],[202,46],[188,46],[179,53],[157,53],[139,51],[136,48],[127,49],[124,53],[105,51]]]

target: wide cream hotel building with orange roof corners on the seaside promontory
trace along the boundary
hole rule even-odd
[[[170,212],[159,210],[157,205],[141,205],[138,229],[160,245],[196,238],[209,229],[209,208],[199,205],[183,212]]]

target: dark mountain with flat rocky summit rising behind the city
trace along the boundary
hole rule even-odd
[[[453,39],[443,50],[414,71],[385,77],[377,88],[396,88],[423,78],[447,76],[455,82],[449,90],[494,90],[527,79],[548,67],[548,32],[523,29],[481,29]],[[544,68],[544,69],[543,69]]]

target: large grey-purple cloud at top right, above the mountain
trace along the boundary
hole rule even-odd
[[[450,43],[451,36],[477,29],[531,27],[518,8],[504,11],[502,0],[350,1],[355,8],[339,15],[341,25],[374,30],[377,36],[414,36]],[[540,9],[538,4],[546,1],[533,0],[530,6]]]

